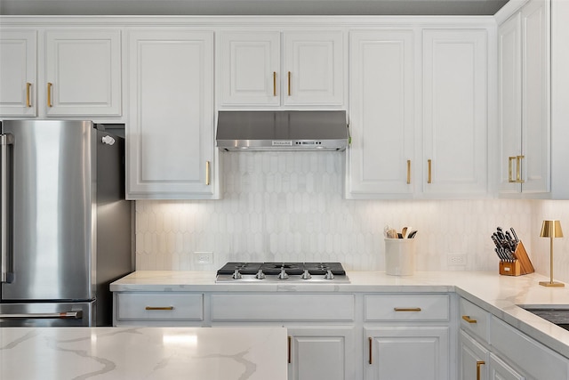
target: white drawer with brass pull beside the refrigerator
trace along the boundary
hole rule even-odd
[[[195,293],[118,293],[118,320],[204,320],[204,297]]]

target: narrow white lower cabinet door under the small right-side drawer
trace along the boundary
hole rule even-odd
[[[490,352],[462,330],[459,345],[461,349],[459,380],[486,380]]]

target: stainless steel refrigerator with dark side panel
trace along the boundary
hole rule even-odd
[[[110,326],[132,271],[124,139],[91,121],[0,127],[0,327]]]

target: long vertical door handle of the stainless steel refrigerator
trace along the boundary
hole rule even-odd
[[[0,134],[0,282],[12,282],[8,255],[12,251],[12,179],[9,145],[12,134]]]

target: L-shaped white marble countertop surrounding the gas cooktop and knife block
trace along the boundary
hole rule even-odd
[[[567,287],[541,287],[536,273],[501,276],[497,271],[424,271],[389,276],[381,271],[348,271],[349,284],[215,283],[214,271],[135,271],[111,284],[112,291],[181,292],[456,292],[528,336],[569,358],[569,331],[518,305],[569,309]]]

